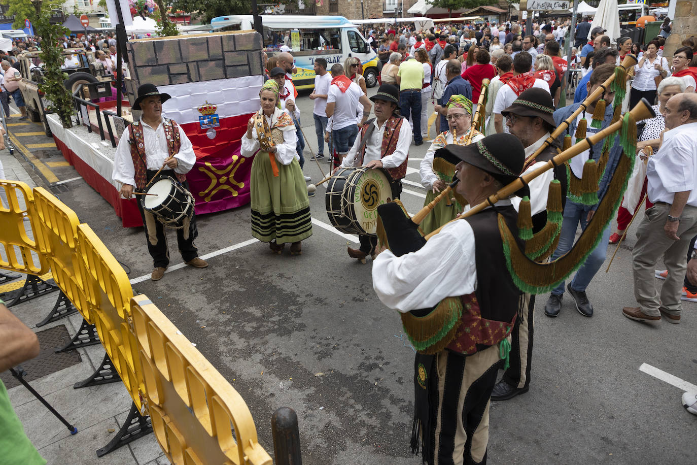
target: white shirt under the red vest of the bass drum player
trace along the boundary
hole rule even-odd
[[[411,146],[411,126],[406,119],[402,121],[399,127],[399,136],[397,139],[397,146],[392,155],[388,155],[385,158],[381,158],[382,155],[382,144],[383,144],[383,134],[385,132],[385,127],[387,125],[387,120],[378,126],[378,120],[374,119],[372,124],[375,126],[373,133],[367,144],[365,144],[365,157],[363,158],[363,166],[367,165],[368,162],[373,160],[382,160],[383,168],[396,168],[406,160],[409,154],[409,146]],[[359,137],[355,138],[351,150],[348,151],[344,161],[342,162],[342,167],[360,167],[360,132]]]

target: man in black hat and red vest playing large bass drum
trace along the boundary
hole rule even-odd
[[[392,189],[392,198],[399,199],[401,178],[406,176],[409,146],[411,145],[411,126],[402,124],[399,116],[399,89],[392,84],[383,84],[378,93],[370,98],[375,103],[375,118],[369,119],[356,137],[353,147],[348,151],[341,167],[381,168],[386,171]],[[341,168],[339,167],[339,168]],[[335,169],[334,172],[339,170]],[[365,263],[365,257],[374,257],[377,236],[359,234],[360,249],[348,249],[348,257]]]

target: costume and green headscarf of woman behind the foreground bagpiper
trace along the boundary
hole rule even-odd
[[[464,96],[451,96],[446,104],[447,108],[458,107],[466,110],[468,114],[472,114],[472,102]],[[457,134],[457,142],[453,140],[453,134],[450,130],[441,132],[441,134],[434,139],[434,142],[429,147],[426,152],[424,159],[421,160],[421,165],[419,169],[419,174],[421,175],[421,185],[426,188],[426,199],[424,200],[424,206],[428,205],[436,198],[433,192],[433,185],[436,181],[441,180],[446,184],[452,182],[452,176],[454,176],[455,167],[450,162],[446,162],[443,158],[438,158],[438,161],[434,159],[434,153],[438,149],[445,147],[447,144],[458,144],[464,145],[465,141],[470,134],[471,128],[463,131],[462,134]],[[484,135],[475,130],[472,137],[472,142],[477,142],[478,140],[484,139]],[[421,229],[424,234],[429,234],[431,231],[438,229],[443,226],[443,224],[453,220],[459,213],[461,213],[464,205],[461,205],[460,201],[456,200],[454,202],[441,201],[436,204],[434,209],[427,215],[426,218],[421,222]]]

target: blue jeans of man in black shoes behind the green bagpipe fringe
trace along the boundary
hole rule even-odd
[[[589,211],[590,206],[576,204],[576,202],[567,199],[566,205],[564,206],[564,220],[562,221],[562,231],[559,235],[559,245],[557,246],[557,250],[552,254],[552,260],[561,257],[574,245],[576,229],[579,227],[579,223],[581,223],[581,231],[585,231],[585,227],[588,226],[588,222],[586,222],[585,219],[588,218]],[[584,292],[593,279],[593,276],[595,276],[595,273],[603,266],[608,250],[609,238],[610,226],[608,225],[605,231],[603,231],[598,245],[590,252],[590,255],[585,259],[585,263],[581,265],[581,268],[576,271],[576,275],[571,282],[571,288],[574,289],[574,291]],[[558,296],[564,294],[563,281],[560,282],[556,288],[552,289],[552,294],[557,294]]]

